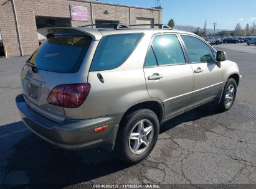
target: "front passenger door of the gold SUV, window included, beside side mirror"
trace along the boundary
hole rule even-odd
[[[222,67],[218,67],[212,48],[201,39],[181,35],[194,71],[194,89],[188,108],[197,106],[217,96],[222,86]]]

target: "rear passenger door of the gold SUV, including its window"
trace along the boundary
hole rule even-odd
[[[187,109],[192,96],[194,74],[191,65],[186,63],[176,34],[153,37],[144,72],[149,96],[163,101],[165,118]]]

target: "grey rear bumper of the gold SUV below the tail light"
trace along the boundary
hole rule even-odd
[[[113,150],[120,114],[95,119],[65,119],[64,122],[57,123],[29,108],[23,94],[16,97],[16,105],[24,124],[39,137],[57,147],[77,150],[102,146],[107,150]],[[95,128],[106,125],[108,129],[98,133],[94,131]]]

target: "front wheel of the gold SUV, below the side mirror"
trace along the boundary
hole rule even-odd
[[[234,79],[230,78],[229,80],[227,80],[225,84],[224,91],[220,99],[220,103],[216,104],[216,108],[220,112],[228,111],[234,104],[236,94],[237,94],[237,83],[235,82]],[[226,98],[227,95],[229,96]]]

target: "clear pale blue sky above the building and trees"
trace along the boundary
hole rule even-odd
[[[131,6],[154,7],[155,0],[100,0]],[[238,0],[161,0],[163,9],[163,24],[174,19],[178,25],[192,25],[207,29],[233,30],[237,23],[244,28],[248,23],[256,24],[256,0],[247,0],[245,3]]]

